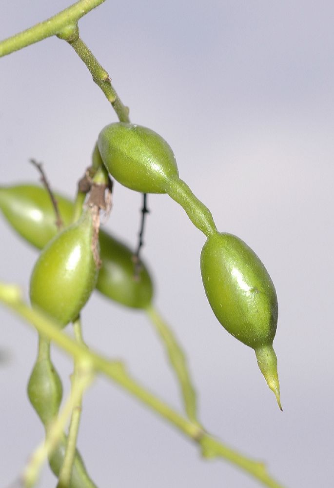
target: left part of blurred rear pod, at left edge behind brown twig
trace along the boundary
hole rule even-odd
[[[73,204],[56,195],[65,225],[71,221]],[[57,233],[56,216],[47,191],[37,185],[0,187],[0,209],[11,226],[30,244],[42,249]]]

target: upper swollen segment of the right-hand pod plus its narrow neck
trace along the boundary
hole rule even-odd
[[[216,230],[210,210],[178,177],[174,153],[156,132],[141,125],[112,123],[99,133],[98,150],[119,183],[142,193],[168,193],[206,236]],[[96,152],[95,146],[93,154],[98,161]]]

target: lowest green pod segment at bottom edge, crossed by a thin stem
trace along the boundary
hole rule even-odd
[[[57,477],[59,476],[64,461],[66,443],[67,438],[65,434],[62,434],[58,447],[56,447],[56,449],[49,457],[50,468]],[[93,483],[86,471],[85,465],[78,449],[76,449],[76,454],[72,467],[71,482],[68,488],[97,488],[97,486]]]

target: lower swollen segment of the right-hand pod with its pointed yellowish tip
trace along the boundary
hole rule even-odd
[[[215,232],[203,246],[201,274],[218,321],[236,339],[255,349],[258,366],[281,408],[272,346],[278,305],[266,268],[241,239]]]

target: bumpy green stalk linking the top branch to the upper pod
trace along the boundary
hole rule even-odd
[[[64,33],[59,36],[61,39],[67,41],[78,54],[79,58],[85,63],[89,69],[93,81],[98,85],[106,96],[108,102],[110,102],[118,115],[120,122],[129,122],[129,109],[120,101],[115,88],[111,84],[111,79],[107,71],[101,66],[95,56],[92,54],[86,44],[80,39],[79,31],[73,36],[73,32],[69,32],[67,35]]]

